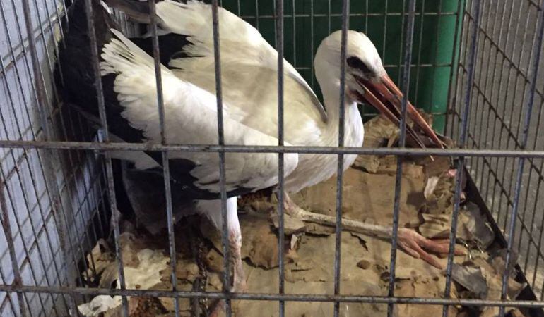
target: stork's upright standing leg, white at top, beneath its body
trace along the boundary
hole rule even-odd
[[[240,230],[240,222],[238,221],[237,206],[236,197],[227,199],[228,247],[233,268],[232,285],[227,286],[230,292],[244,292],[247,289],[242,264],[242,231]],[[199,213],[203,213],[212,221],[215,228],[218,228],[220,231],[223,230],[220,200],[199,201],[196,208]],[[224,307],[224,301],[215,302],[209,316],[218,316]]]

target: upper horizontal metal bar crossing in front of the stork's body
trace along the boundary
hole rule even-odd
[[[0,148],[75,149],[84,151],[172,151],[172,152],[226,152],[226,153],[302,153],[302,154],[363,154],[397,156],[492,156],[544,159],[544,151],[508,149],[411,149],[362,147],[288,147],[265,145],[206,145],[206,144],[151,144],[151,143],[97,143],[59,141],[0,140]]]

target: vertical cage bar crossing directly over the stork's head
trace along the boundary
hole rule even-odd
[[[348,44],[348,27],[350,25],[350,1],[342,2],[342,38],[340,48],[340,97],[338,107],[338,147],[344,146],[345,132],[345,59],[346,46]],[[336,240],[334,244],[334,294],[340,294],[340,265],[341,265],[341,242],[342,242],[342,183],[344,173],[344,156],[338,154],[338,167],[336,170]],[[334,317],[340,315],[340,302],[334,302]]]

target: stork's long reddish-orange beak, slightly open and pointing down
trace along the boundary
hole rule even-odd
[[[383,75],[379,78],[378,82],[372,82],[370,80],[364,80],[362,77],[355,76],[357,83],[362,87],[363,94],[360,92],[353,92],[358,101],[366,101],[368,104],[377,108],[386,118],[391,120],[392,123],[400,125],[401,123],[401,102],[403,94],[401,89],[395,85],[393,80],[388,75]],[[444,149],[444,143],[440,141],[439,137],[432,130],[430,125],[423,119],[418,110],[410,104],[406,104],[406,112],[408,117],[413,121],[414,125],[420,128],[422,132],[429,137],[432,142],[442,149]],[[409,125],[406,125],[406,137],[407,141],[413,147],[425,148],[425,144],[422,142],[418,134]]]

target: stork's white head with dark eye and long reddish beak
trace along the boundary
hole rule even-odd
[[[403,94],[387,75],[382,58],[370,39],[361,32],[348,30],[345,51],[345,95],[350,102],[374,106],[393,123],[400,123]],[[315,56],[314,67],[321,90],[338,92],[340,87],[340,58],[342,32],[336,31],[326,37]],[[442,142],[415,107],[408,102],[408,116],[434,144]],[[413,130],[408,129],[408,139],[422,146]]]

